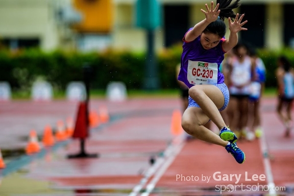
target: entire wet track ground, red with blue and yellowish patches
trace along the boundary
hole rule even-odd
[[[275,101],[262,102],[264,137],[238,143],[242,165],[222,147],[171,134],[177,98],[91,100],[93,111],[106,106],[110,121],[91,129],[86,151],[99,156],[87,159],[67,158],[80,149],[73,139],[24,154],[31,129],[42,139],[45,125],[75,118],[77,103],[0,103],[0,196],[293,195],[294,139],[283,137]]]

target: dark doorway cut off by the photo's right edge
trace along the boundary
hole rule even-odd
[[[294,4],[284,5],[284,43],[286,46],[294,47]]]

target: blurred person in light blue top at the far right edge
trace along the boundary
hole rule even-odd
[[[285,56],[278,58],[277,66],[278,104],[276,110],[286,128],[285,137],[289,137],[293,126],[291,109],[294,99],[294,71]]]

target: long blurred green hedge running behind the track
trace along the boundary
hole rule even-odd
[[[157,54],[161,89],[177,89],[175,67],[180,63],[182,46],[176,45]],[[274,72],[279,55],[294,63],[294,51],[258,50],[267,68],[267,87],[276,87]],[[106,89],[111,81],[122,81],[129,90],[139,90],[145,77],[146,54],[131,51],[43,52],[26,49],[0,50],[0,81],[8,81],[14,91],[29,91],[36,79],[49,81],[55,91],[64,91],[71,81],[83,80],[83,66],[92,68],[91,89]]]

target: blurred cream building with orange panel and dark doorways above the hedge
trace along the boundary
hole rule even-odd
[[[208,0],[158,0],[162,26],[155,29],[157,50],[181,41],[203,19]],[[294,48],[294,0],[241,0],[248,31],[240,37],[258,48]],[[0,41],[10,49],[106,48],[146,50],[146,30],[135,26],[136,0],[0,0]]]

